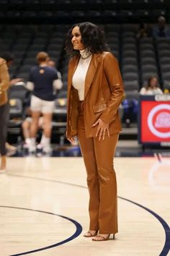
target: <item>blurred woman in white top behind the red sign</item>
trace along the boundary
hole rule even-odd
[[[141,95],[156,95],[163,94],[158,86],[158,78],[153,76],[148,79],[148,84],[146,87],[140,89]]]

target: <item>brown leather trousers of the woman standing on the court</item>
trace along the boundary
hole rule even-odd
[[[117,233],[117,182],[113,158],[119,134],[86,138],[83,110],[79,110],[78,137],[89,188],[89,230]]]

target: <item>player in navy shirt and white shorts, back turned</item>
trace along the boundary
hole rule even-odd
[[[43,153],[50,153],[51,122],[55,105],[54,88],[58,88],[58,73],[54,67],[49,67],[49,56],[41,51],[36,56],[38,66],[30,71],[30,78],[27,88],[32,90],[31,111],[32,123],[30,127],[30,153],[36,150],[36,135],[40,115],[43,118],[44,140],[42,145]],[[60,81],[59,81],[60,82]]]

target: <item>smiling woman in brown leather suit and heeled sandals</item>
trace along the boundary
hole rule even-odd
[[[89,231],[105,241],[117,233],[117,184],[113,158],[121,130],[118,108],[124,98],[117,59],[107,50],[97,25],[71,27],[66,37],[68,65],[68,140],[78,135],[89,187]],[[98,234],[99,232],[99,234]]]

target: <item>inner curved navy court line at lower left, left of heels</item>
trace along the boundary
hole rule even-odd
[[[75,239],[82,232],[81,224],[79,224],[77,221],[74,221],[72,218],[68,218],[66,216],[62,216],[62,215],[59,215],[59,214],[46,212],[46,211],[43,211],[43,210],[35,210],[35,209],[29,209],[29,208],[19,208],[19,207],[14,207],[14,206],[7,206],[7,205],[0,205],[0,207],[1,208],[19,209],[19,210],[30,210],[30,211],[35,211],[35,212],[38,212],[38,213],[50,214],[50,215],[53,215],[53,216],[58,216],[58,217],[61,217],[61,218],[65,218],[66,220],[71,221],[71,223],[73,223],[76,226],[76,231],[74,232],[74,234],[72,236],[68,237],[68,239],[65,239],[65,240],[63,240],[61,242],[58,242],[56,244],[51,244],[51,245],[49,245],[47,247],[42,247],[42,248],[39,248],[39,249],[33,249],[31,251],[28,251],[28,252],[21,252],[21,253],[17,253],[15,255],[10,255],[10,256],[27,255],[27,254],[30,254],[30,253],[33,253],[33,252],[40,252],[40,251],[43,251],[45,249],[50,249],[50,248],[53,248],[53,247],[58,247],[61,244],[66,244],[67,242],[70,242],[71,240]]]

